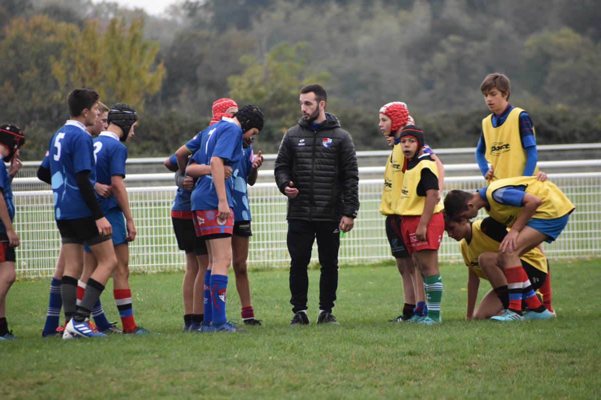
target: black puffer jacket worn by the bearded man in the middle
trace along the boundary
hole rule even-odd
[[[334,114],[313,131],[301,118],[290,128],[275,160],[279,191],[294,182],[299,193],[288,199],[287,219],[340,221],[359,212],[359,171],[355,145]]]

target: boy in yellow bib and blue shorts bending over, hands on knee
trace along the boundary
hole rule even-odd
[[[551,311],[540,303],[534,291],[525,296],[522,291],[531,286],[520,256],[540,245],[551,243],[566,227],[575,209],[566,195],[550,181],[538,181],[535,176],[521,176],[495,181],[469,193],[452,190],[445,197],[448,218],[474,218],[486,207],[489,215],[509,227],[499,245],[498,264],[504,270],[509,291],[508,308],[497,321],[546,319]],[[529,311],[522,315],[522,297]]]

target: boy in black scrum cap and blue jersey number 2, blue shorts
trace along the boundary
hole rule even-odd
[[[138,115],[133,107],[124,103],[112,106],[108,112],[108,128],[94,139],[94,156],[97,182],[111,187],[110,196],[97,195],[97,200],[113,230],[112,244],[117,255],[117,268],[113,272],[113,296],[119,310],[123,333],[141,335],[149,332],[136,325],[133,318],[132,291],[128,281],[128,242],[135,239],[136,227],[123,184],[127,160],[127,148],[123,143],[133,136],[137,121]],[[88,246],[84,249],[84,271],[91,273],[96,268],[96,258]],[[84,274],[81,280],[85,281],[87,278]]]

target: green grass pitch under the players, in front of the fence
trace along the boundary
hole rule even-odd
[[[0,342],[1,399],[601,397],[599,260],[552,262],[547,321],[465,321],[466,269],[441,266],[444,323],[389,323],[400,277],[389,264],[341,267],[334,315],[317,326],[318,270],[310,270],[310,326],[289,326],[287,269],[251,272],[255,314],[246,333],[181,333],[182,273],[130,278],[136,322],[160,336],[42,339],[48,279],[20,280],[7,299],[16,341]],[[239,317],[230,276],[228,317]],[[118,320],[109,293],[103,303]],[[487,290],[483,282],[480,296]]]

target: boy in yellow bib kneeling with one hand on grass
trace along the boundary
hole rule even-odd
[[[497,265],[499,245],[507,234],[505,225],[488,216],[478,221],[468,219],[445,218],[445,230],[448,236],[459,242],[463,261],[468,266],[468,307],[466,319],[484,319],[502,314],[509,308],[507,279]],[[532,287],[522,290],[525,297],[530,290],[537,290],[545,284],[548,262],[538,248],[526,252],[520,257],[522,267]],[[487,279],[492,289],[484,295],[475,308],[480,278]],[[475,308],[475,311],[474,311]]]

